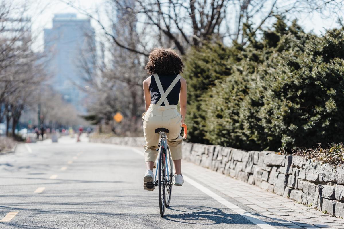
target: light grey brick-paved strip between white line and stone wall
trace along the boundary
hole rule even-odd
[[[269,193],[255,185],[235,180],[186,161],[183,161],[182,170],[185,175],[202,178],[201,182],[211,185],[211,188],[285,225],[286,228],[344,229],[344,219]]]

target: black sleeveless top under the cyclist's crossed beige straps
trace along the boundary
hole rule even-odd
[[[172,81],[178,76],[178,74],[174,75],[158,75],[159,80],[162,85],[162,89],[166,91],[168,87],[170,87]],[[149,91],[151,94],[151,104],[157,104],[159,99],[161,98],[157,82],[155,82],[155,78],[151,75],[151,83],[149,85]],[[178,105],[179,101],[179,93],[180,93],[180,80],[176,83],[176,85],[172,88],[171,92],[167,96],[167,100],[169,101],[170,105]],[[165,106],[164,103],[161,106]]]

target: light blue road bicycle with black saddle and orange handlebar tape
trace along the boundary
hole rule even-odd
[[[184,127],[184,136],[183,139],[187,137],[187,126],[185,124],[182,125]],[[159,209],[160,209],[160,216],[164,217],[165,215],[165,207],[170,205],[171,201],[171,193],[172,193],[172,186],[173,186],[173,165],[172,165],[172,158],[169,146],[167,145],[166,140],[166,133],[169,133],[168,129],[165,128],[158,128],[155,129],[155,133],[160,134],[160,142],[159,142],[159,156],[158,156],[158,164],[157,169],[155,170],[155,177],[154,177],[154,186],[159,186]],[[158,174],[158,180],[157,180]]]

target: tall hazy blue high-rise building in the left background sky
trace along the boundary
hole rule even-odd
[[[95,33],[89,19],[74,13],[55,14],[53,27],[44,30],[50,83],[80,114],[86,114],[85,67],[92,68]]]

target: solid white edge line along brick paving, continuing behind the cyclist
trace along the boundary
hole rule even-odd
[[[137,152],[140,155],[144,155],[144,153],[138,149],[132,148],[135,152]],[[263,229],[276,229],[275,227],[267,224],[266,222],[264,222],[261,219],[258,219],[256,216],[252,215],[251,213],[248,213],[247,211],[245,211],[244,209],[240,208],[239,206],[230,203],[229,201],[227,201],[225,198],[217,195],[216,193],[214,193],[213,191],[209,190],[208,188],[204,187],[203,185],[201,185],[200,183],[197,183],[196,181],[192,180],[191,178],[183,175],[184,180],[191,184],[192,186],[194,186],[195,188],[197,188],[198,190],[204,192],[205,194],[207,194],[208,196],[214,198],[217,202],[225,205],[226,207],[228,207],[229,209],[232,209],[233,211],[235,211],[236,213],[238,213],[240,216],[248,219],[249,221],[251,221],[252,223],[256,224],[257,226],[259,226],[260,228]]]

